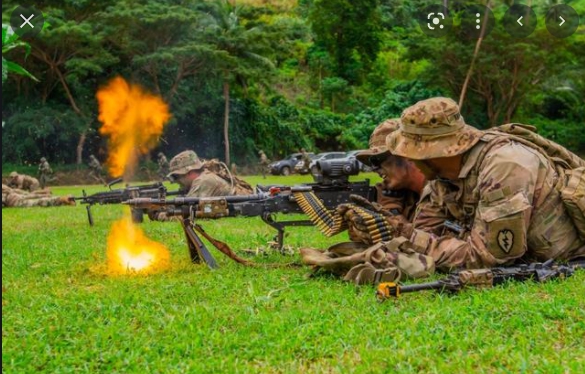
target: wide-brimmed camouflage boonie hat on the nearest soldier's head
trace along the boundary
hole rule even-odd
[[[412,160],[456,156],[482,135],[465,124],[459,106],[444,97],[419,101],[402,112],[400,121],[400,131],[386,138],[386,146],[390,153]]]

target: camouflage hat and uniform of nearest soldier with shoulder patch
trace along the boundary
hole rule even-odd
[[[466,125],[451,99],[418,102],[401,119],[400,131],[386,140],[393,154],[414,160],[463,155],[458,178],[427,184],[414,224],[397,225],[437,268],[585,255],[556,188],[559,176],[542,153]]]

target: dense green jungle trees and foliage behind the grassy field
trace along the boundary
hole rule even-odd
[[[115,76],[171,107],[153,155],[192,148],[245,165],[257,162],[259,149],[275,159],[300,147],[365,147],[378,123],[416,101],[460,97],[476,40],[461,36],[456,18],[449,36],[425,36],[417,12],[435,3],[36,1],[48,26],[26,40],[30,53],[3,48],[3,58],[38,81],[10,73],[3,81],[2,162],[36,164],[48,156],[54,164],[82,163],[90,153],[104,159],[95,93]],[[442,3],[457,15],[469,2]],[[557,39],[544,24],[557,1],[529,0],[537,29],[515,39],[500,22],[513,1],[488,3],[498,22],[476,54],[464,118],[479,128],[533,124],[583,154],[585,25]],[[582,0],[564,3],[585,12]],[[2,2],[3,23],[18,4]]]

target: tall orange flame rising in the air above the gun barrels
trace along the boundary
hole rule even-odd
[[[109,136],[108,167],[113,177],[127,179],[140,154],[158,142],[171,118],[167,104],[123,78],[112,79],[96,94],[100,134]]]

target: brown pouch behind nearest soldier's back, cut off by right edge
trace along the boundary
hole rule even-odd
[[[579,237],[585,240],[585,166],[565,170],[565,181],[561,188],[561,199]]]

